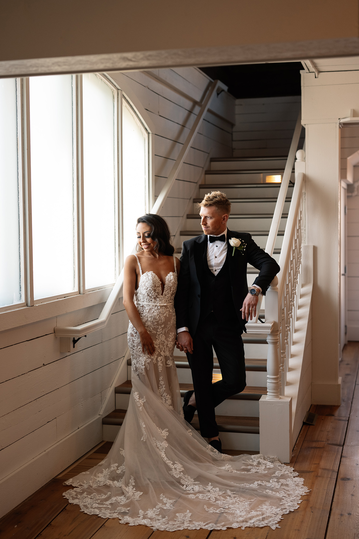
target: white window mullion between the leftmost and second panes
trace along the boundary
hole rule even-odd
[[[31,151],[30,151],[30,81],[22,79],[23,178],[25,206],[26,305],[34,304],[32,256]]]

